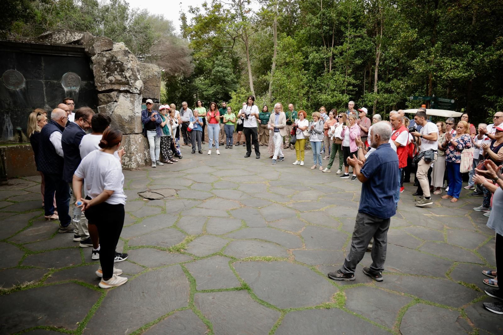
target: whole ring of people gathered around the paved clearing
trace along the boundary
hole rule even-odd
[[[354,102],[348,104],[347,111],[340,112],[332,109],[326,113],[322,106],[311,114],[311,121],[306,111],[295,111],[293,104],[288,105],[286,112],[281,103],[276,103],[272,112],[267,105],[259,111],[253,96],[247,98],[237,115],[225,102],[221,108],[211,102],[208,110],[200,100],[194,110],[187,102],[182,103],[180,110],[174,104],[166,104],[155,111],[150,99],[145,105],[141,121],[152,167],[178,162],[175,157],[182,158],[183,146],[191,146],[192,154],[202,154],[206,129],[209,155],[212,150],[219,155],[219,144],[225,143],[226,149],[246,146],[244,157],[250,157],[254,149],[260,159],[260,147],[267,145],[272,164],[285,160],[284,149],[290,148],[295,149],[293,164],[303,166],[308,142],[313,154],[311,170],[323,173],[331,172],[338,156],[336,174],[362,182],[361,199],[366,200],[360,202],[346,263],[329,274],[334,280],[354,279],[355,267],[372,239],[374,263],[364,272],[382,280],[389,218],[395,214],[403,185],[410,182],[412,174],[417,186],[413,193],[415,205],[425,207],[433,204],[432,193],[439,196],[442,189],[446,192],[442,199],[457,202],[463,173],[468,173],[468,185],[464,188],[474,190],[471,196],[483,197],[482,204],[474,210],[489,218],[487,225],[496,231],[496,265],[503,262],[503,112],[495,113],[494,123],[475,127],[466,113],[457,123],[454,118],[431,122],[423,107],[411,120],[402,110],[391,111],[389,121],[382,120],[379,114],[371,120],[367,109],[355,109]],[[73,240],[81,247],[93,247],[92,258],[100,259],[96,274],[103,278],[101,287],[122,285],[127,278],[121,277],[122,271],[113,266],[127,258],[127,254],[115,251],[126,199],[122,189],[122,133],[109,128],[110,117],[95,114],[88,107],[74,111],[74,106],[72,99],[65,98],[52,110],[50,120],[41,109],[29,117],[28,135],[42,177],[44,216],[46,220],[59,220],[59,232],[73,232]],[[323,160],[328,160],[324,168]],[[385,213],[383,208],[387,209]],[[110,224],[101,224],[103,220],[98,218],[103,217]],[[367,229],[368,223],[375,229]],[[490,277],[484,283],[497,288],[497,272],[483,273]],[[503,297],[497,290],[490,292]],[[503,310],[497,304],[491,308]]]

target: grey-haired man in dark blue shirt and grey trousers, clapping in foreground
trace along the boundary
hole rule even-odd
[[[348,157],[353,173],[363,185],[351,249],[341,269],[328,273],[333,280],[355,280],[356,266],[363,259],[372,237],[372,264],[370,268],[363,268],[363,273],[378,282],[383,280],[389,223],[396,213],[394,195],[398,180],[398,156],[389,144],[391,126],[388,122],[374,124],[370,137],[371,146],[376,150],[365,163],[356,157]]]

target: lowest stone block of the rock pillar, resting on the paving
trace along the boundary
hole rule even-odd
[[[139,169],[150,162],[148,141],[142,134],[122,136],[122,146],[126,150],[126,153],[122,156],[123,169]]]

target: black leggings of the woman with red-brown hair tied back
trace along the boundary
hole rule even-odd
[[[86,199],[91,200],[90,197]],[[100,265],[103,278],[112,278],[114,273],[115,248],[124,225],[124,205],[102,202],[84,212],[89,223],[95,224],[100,236]]]

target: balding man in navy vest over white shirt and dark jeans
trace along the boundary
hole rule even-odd
[[[51,120],[40,131],[39,169],[45,179],[45,199],[50,199],[56,192],[56,205],[59,215],[59,232],[73,232],[73,224],[68,214],[70,202],[70,188],[63,180],[63,148],[61,136],[68,117],[62,109],[56,108],[51,112]],[[49,213],[50,201],[45,202],[45,215]]]

